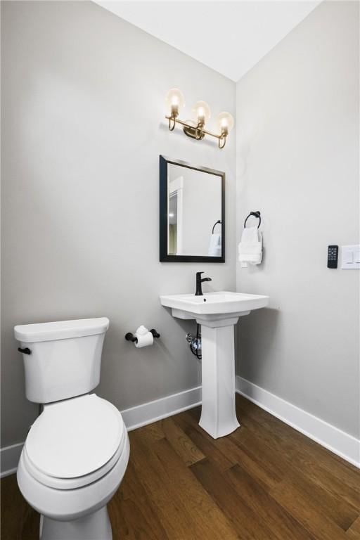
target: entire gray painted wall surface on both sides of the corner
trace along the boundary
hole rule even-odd
[[[16,323],[108,316],[98,394],[124,409],[200,384],[161,293],[235,286],[237,231],[261,210],[264,264],[238,290],[271,296],[239,323],[243,377],[358,434],[359,273],[326,246],[359,242],[358,11],[323,3],[237,85],[87,2],[1,2],[2,446],[25,439]],[[179,86],[235,113],[221,152],[169,134]],[[186,113],[185,113],[186,115]],[[158,155],[226,172],[226,264],[158,262]],[[237,163],[236,163],[237,158]],[[237,181],[234,172],[237,166]],[[235,186],[235,183],[237,186]],[[238,239],[239,240],[239,237]],[[139,323],[162,339],[137,350]]]

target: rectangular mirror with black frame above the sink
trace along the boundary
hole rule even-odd
[[[225,262],[225,173],[160,155],[160,261]]]

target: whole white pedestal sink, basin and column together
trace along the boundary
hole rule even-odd
[[[204,293],[160,296],[178,319],[196,319],[202,326],[203,404],[199,425],[217,439],[240,426],[235,411],[233,327],[240,316],[265,307],[268,296],[242,293]]]

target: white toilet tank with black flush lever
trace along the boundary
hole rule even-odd
[[[29,401],[49,403],[87,394],[100,382],[101,352],[109,319],[15,326]]]

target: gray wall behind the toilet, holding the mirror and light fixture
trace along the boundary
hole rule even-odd
[[[88,2],[1,2],[2,446],[25,439],[16,323],[108,316],[98,394],[119,408],[200,384],[162,293],[234,289],[235,136],[225,150],[169,133],[164,96],[179,86],[235,115],[233,82]],[[158,262],[158,156],[226,172],[226,264]],[[161,333],[135,349],[124,333]]]

